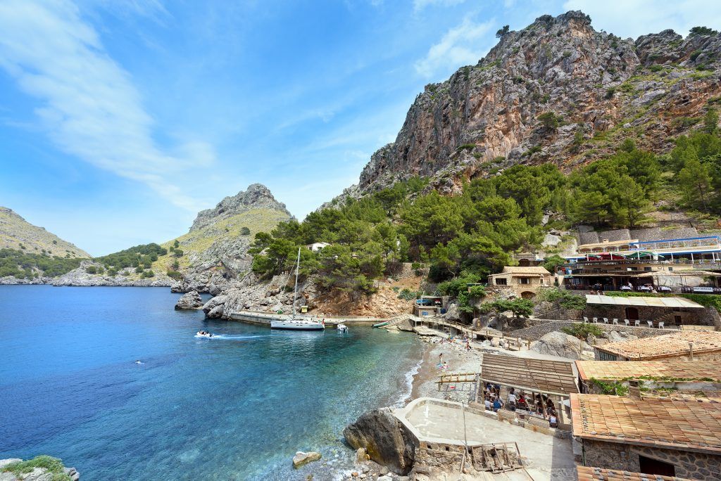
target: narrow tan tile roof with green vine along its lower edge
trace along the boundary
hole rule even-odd
[[[701,381],[721,379],[721,366],[704,361],[576,361],[581,379],[639,379],[641,377]],[[719,381],[721,382],[721,381]]]

